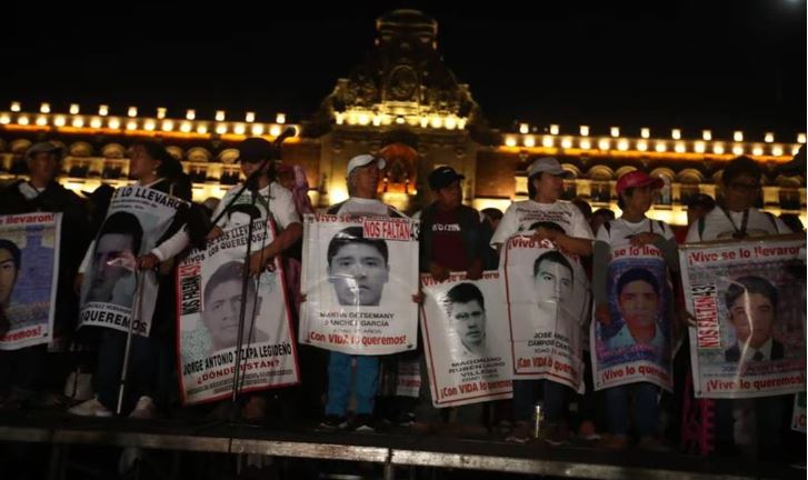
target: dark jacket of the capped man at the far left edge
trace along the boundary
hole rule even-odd
[[[79,196],[56,181],[31,200],[20,192],[21,183],[24,180],[16,181],[0,191],[0,214],[37,211],[62,213],[54,317],[54,333],[62,336],[72,332],[78,319],[79,299],[73,292],[73,280],[90,242],[88,213]]]

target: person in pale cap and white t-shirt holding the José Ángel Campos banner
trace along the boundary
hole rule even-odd
[[[515,202],[508,207],[491,238],[491,244],[499,249],[511,236],[529,232],[536,222],[541,222],[532,231],[532,239],[537,240],[539,244],[548,240],[560,251],[579,257],[591,256],[592,232],[583,214],[572,203],[559,200],[563,192],[563,179],[567,176],[567,171],[552,157],[535,160],[528,168],[528,196],[530,199]],[[526,318],[512,321],[529,323],[531,320]],[[576,323],[568,328],[578,328],[578,326]],[[537,380],[513,380],[516,426],[508,436],[511,441],[526,442],[531,437],[530,419],[537,399],[538,382]],[[562,424],[567,389],[551,380],[545,380],[542,383],[545,418],[547,419],[542,437],[549,443],[559,444],[565,442],[567,437]]]

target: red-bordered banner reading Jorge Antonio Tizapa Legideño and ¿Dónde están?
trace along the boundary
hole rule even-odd
[[[243,290],[248,230],[249,224],[225,230],[178,266],[178,360],[186,404],[232,394],[242,307],[239,392],[300,380],[280,259],[276,257],[272,268],[258,278],[250,277]],[[273,239],[271,221],[253,221],[252,252]]]

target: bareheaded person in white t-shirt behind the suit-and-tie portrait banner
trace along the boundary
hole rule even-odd
[[[755,207],[760,196],[762,174],[761,166],[748,157],[737,157],[727,163],[720,180],[722,197],[719,199],[718,206],[690,226],[687,242],[791,233],[782,220]],[[756,296],[756,293],[748,293],[746,288],[744,290],[747,293],[742,298],[749,299]],[[782,431],[787,417],[785,412],[792,403],[792,396],[758,397],[751,401],[755,404],[755,431],[759,459],[781,458],[784,454]],[[716,400],[716,447],[718,452],[732,453],[736,451],[732,410],[736,404],[740,406],[741,402],[742,400]]]

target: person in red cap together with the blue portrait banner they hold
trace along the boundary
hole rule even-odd
[[[592,349],[597,378],[618,360],[617,363],[629,363],[638,358],[667,370],[667,378],[671,376],[671,324],[669,309],[664,308],[664,300],[670,294],[665,294],[662,289],[667,288],[668,271],[679,270],[676,238],[667,223],[646,217],[655,191],[662,186],[660,179],[639,170],[624,174],[617,182],[622,216],[605,222],[598,230],[592,268],[595,319],[600,323],[592,326],[595,343],[600,343]],[[666,280],[665,284],[660,278]],[[614,291],[609,291],[609,287]],[[616,326],[619,327],[617,331]],[[622,367],[619,364],[620,369]],[[599,446],[626,448],[629,417],[632,417],[639,446],[661,448],[656,439],[660,380],[641,376],[629,380],[630,383],[606,388],[610,434],[603,437]],[[669,381],[665,387],[669,388]],[[630,396],[635,400],[629,412]]]

